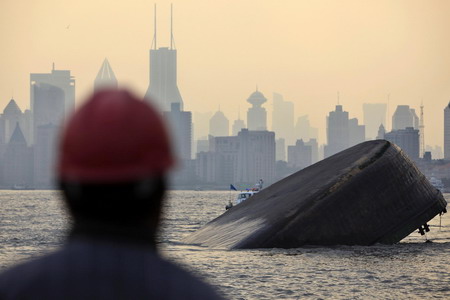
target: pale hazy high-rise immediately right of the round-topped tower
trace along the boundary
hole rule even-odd
[[[286,144],[294,142],[294,103],[284,101],[283,96],[273,93],[272,130]]]

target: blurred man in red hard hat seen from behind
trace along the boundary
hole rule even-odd
[[[127,91],[92,96],[69,120],[59,184],[74,224],[64,247],[0,275],[0,299],[218,299],[155,248],[174,163],[161,117]]]

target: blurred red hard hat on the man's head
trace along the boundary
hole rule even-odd
[[[102,90],[66,124],[58,174],[66,182],[118,183],[162,175],[173,163],[155,109],[126,90]]]

